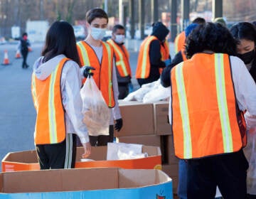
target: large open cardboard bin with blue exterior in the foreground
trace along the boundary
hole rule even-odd
[[[0,173],[0,198],[173,198],[172,181],[154,169],[80,168]]]

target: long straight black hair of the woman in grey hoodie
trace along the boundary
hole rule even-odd
[[[66,21],[55,21],[46,34],[43,62],[61,54],[80,65],[73,27]]]

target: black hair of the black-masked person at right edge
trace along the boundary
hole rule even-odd
[[[241,39],[246,39],[254,41],[256,45],[256,28],[252,23],[235,23],[233,26],[231,26],[230,33],[238,41],[238,43]]]

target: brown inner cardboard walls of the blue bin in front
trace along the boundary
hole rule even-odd
[[[166,173],[154,169],[76,168],[0,173],[1,193],[135,188],[167,181],[171,179]]]

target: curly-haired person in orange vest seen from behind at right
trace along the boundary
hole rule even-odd
[[[236,55],[236,41],[206,23],[186,42],[190,58],[171,69],[169,119],[174,151],[187,161],[187,198],[246,198],[245,131],[238,114],[256,117],[256,85]],[[245,89],[246,88],[246,89]]]

